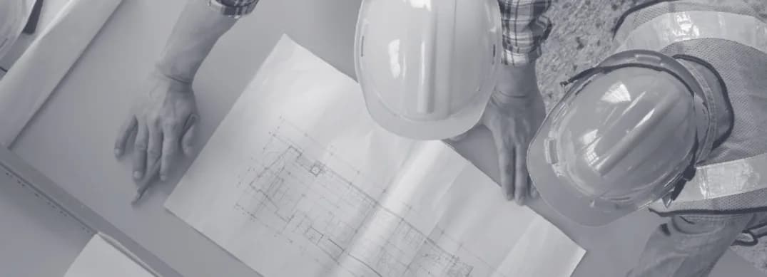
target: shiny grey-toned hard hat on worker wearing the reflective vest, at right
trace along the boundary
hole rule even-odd
[[[624,51],[578,75],[530,143],[527,168],[554,210],[601,226],[670,195],[709,147],[698,142],[711,121],[693,73],[659,52]]]

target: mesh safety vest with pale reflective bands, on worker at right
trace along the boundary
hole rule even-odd
[[[706,155],[717,162],[696,167],[670,205],[657,200],[650,210],[663,216],[767,210],[767,131],[761,131],[767,129],[761,125],[767,120],[767,23],[739,0],[661,2],[626,19],[617,31],[618,52],[705,60],[722,76],[734,112],[729,142]]]

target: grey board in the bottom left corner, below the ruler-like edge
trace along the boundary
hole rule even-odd
[[[0,148],[0,220],[4,276],[64,275],[95,233],[109,236],[156,275],[180,276],[6,148]]]

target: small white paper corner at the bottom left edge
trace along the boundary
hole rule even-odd
[[[154,277],[98,234],[72,262],[64,277]]]

